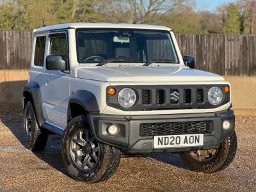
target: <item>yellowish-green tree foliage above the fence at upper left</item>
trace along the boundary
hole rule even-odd
[[[0,29],[31,30],[45,24],[99,22],[96,0],[9,0],[0,3]]]

